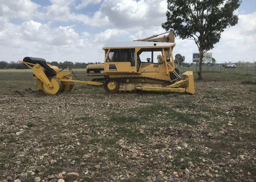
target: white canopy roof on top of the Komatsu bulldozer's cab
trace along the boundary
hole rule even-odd
[[[154,45],[156,44],[156,45]],[[143,41],[131,41],[131,42],[109,42],[102,49],[106,48],[121,48],[121,47],[171,47],[176,45],[170,42],[143,42]]]

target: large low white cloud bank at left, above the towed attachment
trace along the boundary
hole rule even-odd
[[[70,26],[52,29],[48,24],[30,20],[20,26],[7,23],[4,31],[0,32],[0,35],[5,34],[4,40],[0,39],[0,48],[2,56],[9,58],[6,61],[17,61],[25,56],[43,57],[52,61],[59,56],[57,61],[63,61],[68,57],[71,59],[71,55],[81,48],[80,36]]]

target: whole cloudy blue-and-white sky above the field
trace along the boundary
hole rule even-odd
[[[0,0],[0,61],[104,62],[107,42],[164,33],[166,11],[166,0]],[[238,24],[208,51],[217,63],[256,60],[256,0],[243,0],[235,14]],[[192,62],[195,42],[175,43],[173,55]]]

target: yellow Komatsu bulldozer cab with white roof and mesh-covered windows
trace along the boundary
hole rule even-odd
[[[103,47],[105,50],[105,72],[108,74],[159,72],[159,64],[162,64],[162,61],[157,59],[158,54],[163,59],[173,62],[172,49],[174,46],[175,43],[162,42],[110,42]],[[144,53],[148,53],[150,58],[143,56]]]

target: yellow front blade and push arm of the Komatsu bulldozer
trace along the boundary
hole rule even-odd
[[[181,74],[181,80],[166,87],[136,87],[137,90],[148,92],[179,92],[195,93],[194,77],[192,71],[186,71]]]

